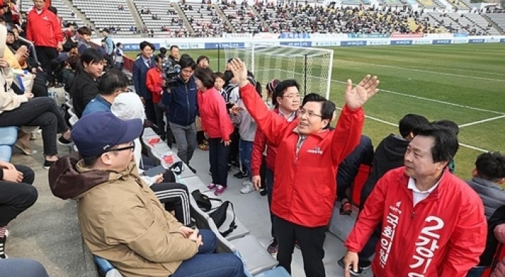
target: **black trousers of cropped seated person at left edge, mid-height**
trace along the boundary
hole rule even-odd
[[[21,183],[0,181],[0,227],[6,226],[12,219],[31,207],[39,193],[32,186],[35,173],[30,167],[16,164],[14,165],[19,172],[23,173]]]

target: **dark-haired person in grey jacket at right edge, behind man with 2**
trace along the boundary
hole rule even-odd
[[[499,152],[479,155],[471,174],[473,178],[466,183],[481,197],[488,227],[486,249],[479,259],[479,264],[471,268],[468,275],[480,277],[493,263],[499,245],[498,239],[494,236],[494,229],[499,224],[505,223],[505,190],[500,187],[505,184],[505,156]]]

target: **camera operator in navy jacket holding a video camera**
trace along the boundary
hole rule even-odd
[[[193,58],[185,57],[179,61],[180,73],[170,78],[167,73],[168,88],[163,93],[161,102],[168,108],[167,120],[177,142],[177,154],[180,160],[188,164],[196,147],[195,116],[198,113],[196,84],[193,71],[196,63]],[[195,172],[193,168],[190,169]]]

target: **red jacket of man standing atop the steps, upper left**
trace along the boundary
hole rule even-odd
[[[29,11],[26,39],[33,41],[35,46],[53,48],[56,48],[58,43],[63,43],[60,21],[56,14],[47,9],[47,6],[44,6],[41,14],[35,8]]]

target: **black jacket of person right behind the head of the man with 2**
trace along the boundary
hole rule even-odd
[[[384,137],[384,140],[377,145],[372,162],[372,173],[361,189],[360,207],[363,207],[375,184],[386,172],[403,167],[403,157],[407,151],[407,146],[409,146],[408,140],[394,134]]]

